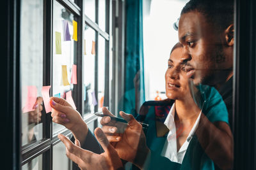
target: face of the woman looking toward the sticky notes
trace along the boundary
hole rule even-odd
[[[165,73],[166,96],[169,99],[185,99],[189,94],[189,85],[184,65],[180,63],[182,48],[176,48],[168,60],[168,69]]]

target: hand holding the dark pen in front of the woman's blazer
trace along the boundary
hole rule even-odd
[[[102,108],[102,112],[104,115],[114,116],[107,108]],[[120,111],[120,116],[128,122],[125,131],[120,128],[121,122],[115,122],[109,117],[103,117],[100,120],[102,131],[107,135],[109,142],[114,146],[121,159],[142,167],[149,152],[142,126],[132,115]]]

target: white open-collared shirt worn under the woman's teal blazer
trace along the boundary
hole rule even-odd
[[[196,127],[198,126],[201,113],[202,111],[200,111],[200,114],[198,115],[195,124],[193,125],[191,131],[189,132],[189,135],[186,141],[183,143],[183,145],[180,147],[179,151],[177,152],[176,127],[174,122],[175,103],[173,103],[172,108],[168,116],[166,117],[166,120],[164,121],[164,125],[166,125],[166,127],[168,127],[170,131],[168,133],[168,136],[166,138],[166,141],[163,147],[163,151],[161,153],[163,157],[170,159],[172,162],[177,162],[179,164],[182,164],[182,160],[184,159],[184,155],[188,148],[189,142],[191,141],[193,134],[195,133]]]

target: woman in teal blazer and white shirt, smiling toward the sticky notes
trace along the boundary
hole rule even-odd
[[[146,136],[140,124],[131,115],[122,112],[120,115],[129,122],[124,133],[117,132],[115,122],[111,122],[109,117],[102,118],[102,130],[118,156],[140,168],[214,169],[215,163],[225,169],[232,150],[232,134],[230,129],[221,129],[218,124],[228,124],[227,108],[214,88],[195,87],[189,83],[188,67],[180,63],[181,54],[182,46],[177,43],[172,49],[165,74],[168,99],[148,101],[141,106],[140,116],[136,119],[149,125]],[[95,153],[103,152],[87,127],[82,132],[80,123],[76,122],[81,122],[81,117],[77,119],[76,111],[69,110],[70,113],[67,113],[52,107],[55,109],[52,121],[70,129],[75,138],[82,141],[82,148]],[[106,108],[103,112],[111,114]],[[68,118],[69,122],[61,117]]]

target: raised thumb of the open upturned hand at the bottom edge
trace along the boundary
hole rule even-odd
[[[105,136],[104,132],[99,127],[95,129],[94,134],[105,152],[115,152],[113,146],[109,144],[108,138]]]

